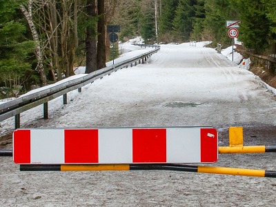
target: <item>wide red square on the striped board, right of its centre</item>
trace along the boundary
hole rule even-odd
[[[166,162],[166,129],[133,129],[132,161]]]

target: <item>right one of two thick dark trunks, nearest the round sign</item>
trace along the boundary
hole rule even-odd
[[[104,1],[98,0],[98,45],[97,45],[97,68],[106,67],[106,15],[104,8]]]

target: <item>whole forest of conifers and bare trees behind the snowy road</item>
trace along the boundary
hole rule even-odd
[[[239,20],[239,41],[275,54],[275,0],[0,0],[0,98],[106,66],[106,27],[119,40],[145,43],[212,41],[230,46],[227,20]]]

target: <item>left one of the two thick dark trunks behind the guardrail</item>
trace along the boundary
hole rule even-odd
[[[86,73],[97,70],[97,32],[96,32],[96,3],[95,0],[87,0],[86,6],[89,26],[86,28]]]

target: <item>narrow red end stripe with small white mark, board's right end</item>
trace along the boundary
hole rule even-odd
[[[217,130],[215,128],[200,129],[201,162],[217,161]]]

